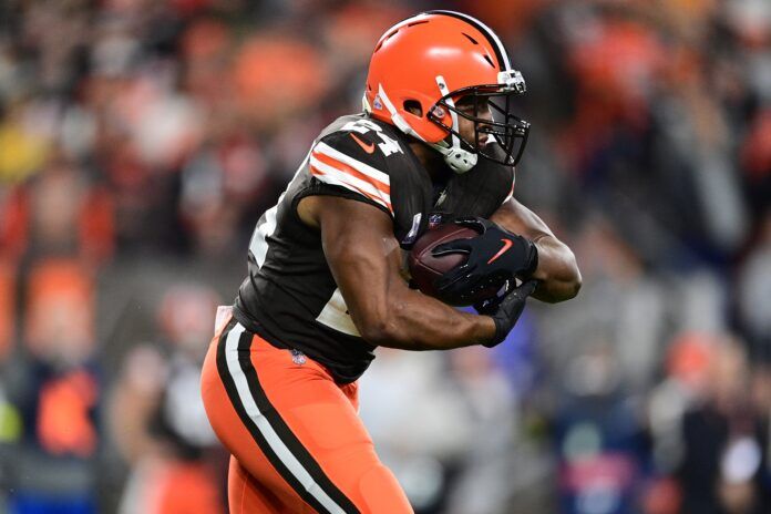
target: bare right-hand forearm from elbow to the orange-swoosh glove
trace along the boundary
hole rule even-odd
[[[541,284],[533,297],[551,304],[575,298],[582,279],[573,251],[548,234],[536,238],[534,243],[538,249],[538,267],[533,278]]]

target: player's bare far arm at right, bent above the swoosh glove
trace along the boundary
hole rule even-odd
[[[491,220],[535,244],[538,265],[532,277],[541,284],[533,294],[534,298],[556,304],[578,294],[582,279],[573,251],[556,238],[535,213],[510,198],[493,214]]]

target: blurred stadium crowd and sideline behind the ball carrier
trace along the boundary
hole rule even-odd
[[[382,350],[419,513],[771,512],[771,2],[0,2],[0,513],[223,512],[214,308],[391,23],[506,42],[517,196],[584,288],[492,351]]]

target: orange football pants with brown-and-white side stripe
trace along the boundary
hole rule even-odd
[[[202,374],[206,413],[232,454],[230,514],[412,513],[357,415],[357,391],[232,318]]]

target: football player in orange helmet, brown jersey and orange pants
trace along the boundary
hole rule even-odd
[[[424,12],[380,39],[364,112],[319,134],[257,223],[204,364],[208,418],[233,454],[232,513],[412,512],[357,417],[374,348],[492,347],[531,294],[577,294],[573,253],[513,196],[528,124],[511,101],[524,91],[498,38],[469,16]],[[453,220],[480,236],[438,248],[469,254],[439,287],[463,300],[502,284],[484,313],[410,289],[401,273],[402,250]]]

